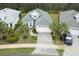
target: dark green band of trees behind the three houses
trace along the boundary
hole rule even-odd
[[[21,10],[23,12],[28,12],[35,8],[41,8],[45,11],[50,12],[51,10],[69,10],[75,9],[79,11],[79,4],[73,3],[0,3],[0,9],[3,8],[12,8]]]

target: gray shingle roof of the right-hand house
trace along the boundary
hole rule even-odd
[[[75,10],[69,10],[69,11],[60,12],[60,14],[59,14],[60,23],[64,22],[69,27],[79,28],[79,22],[74,19],[74,16],[77,13],[78,12],[75,11]]]

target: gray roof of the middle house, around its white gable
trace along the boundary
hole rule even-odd
[[[30,16],[34,11],[36,11],[40,16],[36,19],[35,25],[50,25],[52,20],[49,14],[46,11],[43,11],[41,9],[34,9],[27,13],[27,15],[24,17],[24,20],[26,22],[34,21],[34,19]]]

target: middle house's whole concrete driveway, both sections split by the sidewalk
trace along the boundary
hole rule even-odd
[[[37,44],[50,44],[53,45],[52,37],[50,33],[38,33]],[[33,51],[33,55],[58,55],[57,51],[53,48],[39,48]]]

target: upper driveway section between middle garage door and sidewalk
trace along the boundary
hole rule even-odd
[[[52,44],[52,37],[50,33],[38,33],[37,36],[37,43],[38,44]]]

